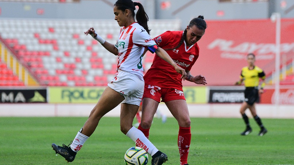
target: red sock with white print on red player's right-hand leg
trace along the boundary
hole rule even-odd
[[[188,164],[188,154],[191,143],[191,127],[180,127],[178,134],[178,147],[181,165]]]

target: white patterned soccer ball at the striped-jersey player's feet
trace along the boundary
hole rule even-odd
[[[126,151],[126,165],[146,165],[148,162],[148,154],[141,147],[131,147]]]

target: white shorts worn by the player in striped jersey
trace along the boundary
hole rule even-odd
[[[125,100],[121,103],[140,106],[144,92],[143,77],[123,70],[118,70],[115,75],[116,77],[108,83],[108,87],[125,97]]]

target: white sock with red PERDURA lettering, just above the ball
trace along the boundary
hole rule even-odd
[[[132,127],[126,135],[131,138],[137,146],[143,148],[151,156],[158,151],[158,149],[145,137],[143,132],[136,127]]]

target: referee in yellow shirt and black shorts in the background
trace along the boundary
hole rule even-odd
[[[245,85],[245,101],[242,103],[242,106],[240,108],[240,113],[244,119],[244,122],[246,124],[246,129],[244,132],[241,133],[241,135],[248,135],[250,132],[252,132],[252,128],[249,124],[249,119],[247,115],[245,114],[245,110],[249,108],[252,116],[254,117],[256,123],[260,127],[260,132],[258,133],[259,136],[263,136],[266,132],[268,132],[267,129],[263,126],[261,119],[256,114],[255,109],[255,102],[259,100],[259,94],[263,93],[263,87],[265,86],[264,80],[265,80],[265,73],[262,69],[254,65],[255,62],[255,55],[253,53],[250,53],[247,55],[247,62],[248,66],[245,66],[242,68],[240,80],[235,83],[235,85],[241,85],[244,81]],[[261,85],[260,88],[259,83],[261,79]]]

